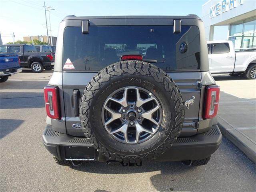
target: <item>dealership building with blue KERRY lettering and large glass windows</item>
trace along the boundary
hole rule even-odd
[[[215,26],[228,26],[221,32],[236,50],[256,48],[256,0],[209,0],[202,6],[202,20],[207,40],[214,40]]]

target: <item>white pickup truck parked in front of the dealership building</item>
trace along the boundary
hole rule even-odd
[[[208,41],[207,44],[212,74],[245,74],[248,79],[256,79],[256,49],[235,52],[233,42],[228,40]]]

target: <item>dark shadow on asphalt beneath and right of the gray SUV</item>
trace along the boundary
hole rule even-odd
[[[149,172],[152,174],[150,182],[157,191],[250,191],[255,185],[254,164],[224,137],[220,148],[204,166],[184,166],[181,162],[146,161],[140,167],[112,167],[99,162],[85,162],[80,167],[71,168],[81,172],[104,174],[106,178],[111,174],[120,174],[121,178],[121,174]],[[250,182],[250,186],[244,183],[244,179]]]

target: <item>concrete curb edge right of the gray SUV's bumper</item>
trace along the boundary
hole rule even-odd
[[[254,164],[256,164],[256,145],[248,138],[246,138],[241,132],[234,129],[230,124],[218,118],[218,126],[222,135],[230,140],[235,146],[237,146]]]

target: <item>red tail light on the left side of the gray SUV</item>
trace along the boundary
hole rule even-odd
[[[44,100],[45,100],[46,114],[50,118],[60,119],[58,87],[45,86]]]

